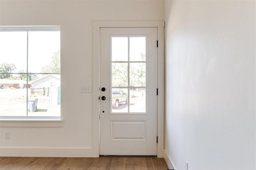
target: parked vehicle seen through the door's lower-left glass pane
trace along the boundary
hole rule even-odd
[[[112,107],[114,109],[118,108],[119,103],[127,104],[127,93],[122,89],[112,89]]]

